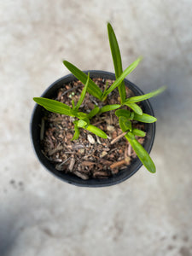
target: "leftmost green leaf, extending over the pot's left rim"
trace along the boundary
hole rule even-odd
[[[62,102],[57,102],[55,100],[50,100],[44,97],[34,97],[33,100],[38,103],[38,105],[43,106],[45,109],[54,113],[66,114],[69,116],[74,116],[72,113],[72,108],[67,106]]]

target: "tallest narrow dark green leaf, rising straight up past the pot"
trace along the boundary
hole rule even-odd
[[[117,38],[115,36],[115,33],[113,31],[113,27],[111,26],[110,23],[108,23],[108,39],[109,39],[111,54],[112,54],[112,58],[113,58],[115,77],[116,77],[116,79],[118,79],[119,76],[121,75],[121,73],[123,73],[123,68],[122,68],[119,44],[118,44]],[[119,84],[118,89],[119,89],[120,102],[122,104],[123,102],[125,102],[125,97],[126,97],[124,81],[122,81]]]

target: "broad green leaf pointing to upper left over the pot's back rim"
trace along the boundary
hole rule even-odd
[[[78,67],[75,67],[72,63],[68,61],[63,61],[63,64],[67,67],[67,69],[73,73],[73,75],[79,79],[83,84],[86,84],[88,76],[81,71]],[[87,91],[95,96],[97,99],[102,100],[102,90],[93,82],[92,79],[89,80]]]

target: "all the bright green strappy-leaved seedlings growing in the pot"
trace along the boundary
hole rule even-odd
[[[85,74],[78,67],[75,67],[72,63],[68,61],[63,61],[63,64],[67,67],[67,69],[73,73],[73,75],[79,79],[82,84],[84,84],[84,89],[81,92],[79,97],[79,102],[77,102],[75,106],[75,102],[72,100],[72,108],[67,106],[67,104],[57,102],[54,100],[46,99],[43,97],[34,97],[33,100],[37,102],[39,105],[43,106],[47,110],[55,113],[61,113],[68,116],[73,117],[74,124],[74,135],[73,140],[77,140],[79,138],[80,128],[83,128],[87,131],[90,131],[96,134],[98,137],[108,138],[107,134],[99,129],[98,127],[91,125],[90,120],[97,114],[100,115],[102,113],[116,110],[115,115],[119,119],[119,127],[125,133],[125,138],[131,144],[131,147],[136,152],[138,158],[142,161],[143,165],[148,169],[149,172],[155,172],[155,166],[153,160],[151,160],[148,152],[143,148],[143,146],[137,142],[136,137],[145,137],[145,132],[138,130],[132,127],[132,121],[137,120],[139,122],[144,123],[153,123],[157,119],[154,116],[151,116],[147,113],[143,113],[142,108],[137,105],[137,102],[142,102],[147,100],[153,96],[159,95],[166,87],[161,87],[158,90],[152,91],[148,94],[142,96],[126,96],[125,90],[125,77],[131,73],[142,61],[142,58],[137,58],[136,61],[132,62],[129,67],[125,68],[123,71],[122,61],[119,51],[119,44],[115,33],[113,31],[113,27],[108,23],[108,39],[111,49],[111,54],[113,58],[113,66],[115,71],[116,80],[111,84],[108,88],[108,83],[105,86],[105,89],[102,91],[96,83],[90,79],[90,73]],[[110,95],[110,93],[118,88],[120,102],[113,105],[105,105],[102,108],[95,106],[90,113],[79,112],[79,108],[84,102],[85,94],[88,92],[90,95],[96,97],[101,102],[105,102],[106,98]],[[127,107],[129,109],[127,109]],[[120,108],[120,109],[119,109]]]

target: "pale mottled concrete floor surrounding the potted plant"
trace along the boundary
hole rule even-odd
[[[192,2],[6,0],[0,2],[0,255],[192,255]],[[113,72],[111,21],[128,77],[151,102],[156,174],[141,168],[119,185],[78,188],[38,163],[29,136],[33,96],[81,69]]]

